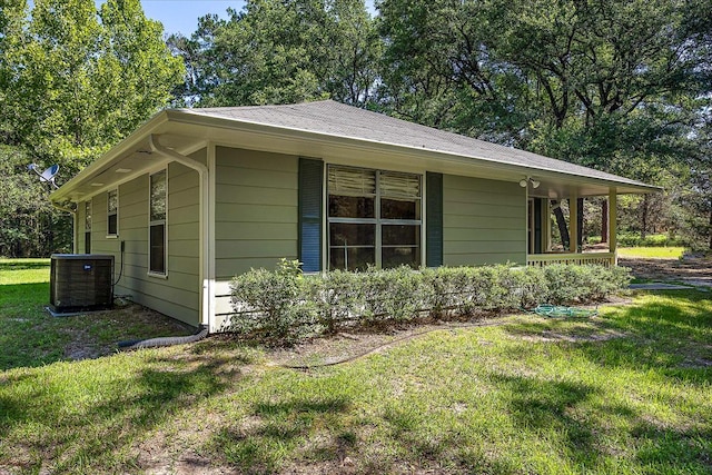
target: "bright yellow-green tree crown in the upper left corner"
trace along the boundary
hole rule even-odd
[[[17,141],[69,172],[164,107],[182,76],[138,0],[36,0],[9,53]]]

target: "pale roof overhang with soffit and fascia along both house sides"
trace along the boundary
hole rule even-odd
[[[532,177],[541,185],[536,189],[530,186],[530,195],[552,199],[567,198],[572,195],[606,196],[611,191],[646,194],[660,190],[659,187],[623,177],[611,176],[611,179],[601,179],[534,166],[503,164],[487,157],[462,156],[427,148],[277,127],[209,116],[189,109],[169,109],[154,116],[52,192],[50,199],[53,202],[81,201],[165,166],[166,159],[151,152],[151,136],[158,136],[161,146],[181,155],[191,154],[207,144],[215,144],[249,150],[323,157],[385,169],[411,167],[504,181],[520,181],[525,177]]]

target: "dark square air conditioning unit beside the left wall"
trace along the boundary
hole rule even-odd
[[[53,254],[50,307],[55,313],[103,310],[113,305],[113,256]]]

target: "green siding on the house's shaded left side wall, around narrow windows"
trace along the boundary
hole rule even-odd
[[[191,157],[205,161],[205,156],[201,150]],[[123,275],[115,293],[130,295],[138,304],[197,326],[200,301],[198,172],[176,162],[168,166],[167,278],[148,276],[148,175],[119,186],[119,236],[116,239],[106,238],[106,192],[93,197],[92,253],[112,254],[118,277],[120,243],[126,241]],[[78,221],[78,228],[81,250],[83,220]]]

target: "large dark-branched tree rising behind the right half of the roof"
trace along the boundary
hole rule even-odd
[[[696,0],[383,0],[394,112],[647,182],[712,90]],[[654,201],[654,200],[652,200]],[[644,235],[652,202],[642,201]]]

